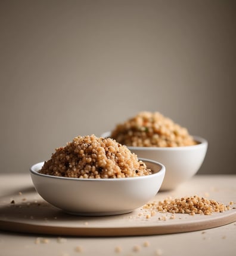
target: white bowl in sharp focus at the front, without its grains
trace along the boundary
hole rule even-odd
[[[165,173],[163,164],[140,159],[153,174],[134,178],[80,179],[39,173],[42,163],[30,168],[36,191],[51,205],[76,215],[116,215],[145,205],[159,191]]]

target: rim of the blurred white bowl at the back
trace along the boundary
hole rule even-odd
[[[108,138],[111,135],[111,132],[104,132],[101,134],[101,137],[103,138]],[[207,147],[208,142],[206,139],[200,137],[200,136],[196,136],[196,135],[192,135],[192,138],[194,138],[194,141],[198,142],[198,144],[196,145],[190,145],[190,146],[181,146],[181,147],[133,147],[133,146],[127,146],[129,148],[129,150],[155,150],[155,151],[176,151],[176,150],[188,150],[191,148],[198,148],[198,147]]]

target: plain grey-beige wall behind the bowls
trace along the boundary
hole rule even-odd
[[[236,1],[0,1],[0,172],[159,111],[235,170]]]

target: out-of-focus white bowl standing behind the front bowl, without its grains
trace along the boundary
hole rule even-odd
[[[109,137],[110,132],[101,136]],[[164,164],[166,175],[160,190],[173,190],[197,173],[204,161],[208,143],[206,139],[193,136],[197,145],[186,147],[128,147],[138,157]]]

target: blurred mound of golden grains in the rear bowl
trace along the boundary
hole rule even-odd
[[[131,147],[182,147],[195,145],[185,127],[179,126],[159,112],[139,112],[135,117],[118,124],[111,138]]]

